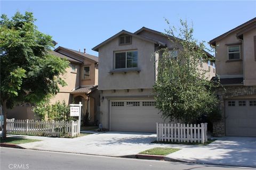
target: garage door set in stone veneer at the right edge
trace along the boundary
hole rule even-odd
[[[256,99],[226,100],[226,135],[256,137]]]

